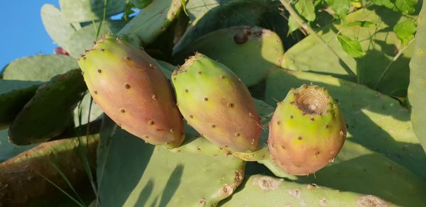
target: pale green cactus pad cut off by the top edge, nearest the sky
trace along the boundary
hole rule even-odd
[[[104,6],[104,2],[107,5]],[[111,16],[124,11],[126,0],[60,0],[60,9],[65,21],[70,23],[88,22],[102,20],[102,16]]]

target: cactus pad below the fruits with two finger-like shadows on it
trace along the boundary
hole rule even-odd
[[[101,139],[99,201],[108,206],[216,206],[244,177],[244,161],[236,157],[170,152],[111,121]]]

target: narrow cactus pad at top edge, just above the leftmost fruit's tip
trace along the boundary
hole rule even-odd
[[[181,0],[155,0],[127,23],[118,35],[137,35],[143,45],[148,45],[168,28],[181,10]]]

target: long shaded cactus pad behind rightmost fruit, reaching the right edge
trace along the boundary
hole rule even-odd
[[[349,125],[346,140],[380,152],[426,179],[426,155],[411,128],[410,112],[389,96],[334,77],[278,69],[266,81],[266,102],[275,104],[291,87],[310,82],[325,86],[339,100]]]

